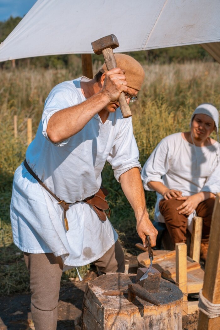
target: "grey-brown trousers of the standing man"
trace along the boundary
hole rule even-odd
[[[61,257],[53,253],[24,253],[30,272],[31,314],[35,330],[56,330]],[[100,259],[93,262],[102,274],[124,273],[124,253],[117,241]]]

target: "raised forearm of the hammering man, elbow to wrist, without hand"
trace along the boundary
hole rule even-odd
[[[48,121],[47,136],[54,143],[68,139],[77,134],[108,103],[105,94],[99,92],[78,105],[57,111]]]

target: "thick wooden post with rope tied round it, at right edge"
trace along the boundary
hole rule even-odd
[[[203,295],[213,304],[220,304],[220,193],[217,194],[209,236],[209,246],[205,263]],[[199,313],[198,330],[220,329],[220,317],[208,318]]]

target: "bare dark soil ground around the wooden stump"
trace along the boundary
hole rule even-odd
[[[127,264],[134,264],[136,256],[126,255]],[[97,277],[91,270],[83,281],[73,279],[60,289],[57,330],[74,330],[74,321],[81,315],[82,300],[87,281]],[[183,316],[183,330],[196,330],[198,313]],[[34,330],[30,312],[30,294],[0,297],[0,330]],[[95,329],[94,329],[95,330]],[[139,329],[137,329],[139,330]]]

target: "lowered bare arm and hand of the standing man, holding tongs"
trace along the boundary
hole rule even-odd
[[[121,187],[131,204],[137,220],[137,232],[146,248],[146,235],[150,236],[151,245],[156,245],[157,230],[149,219],[144,190],[139,169],[134,167],[120,176]]]

